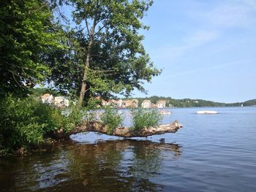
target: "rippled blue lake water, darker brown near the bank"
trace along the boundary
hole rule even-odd
[[[256,191],[256,107],[170,110],[163,123],[184,126],[175,134],[77,134],[50,152],[1,158],[0,191]]]

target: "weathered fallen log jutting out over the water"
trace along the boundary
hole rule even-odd
[[[69,137],[71,134],[78,134],[81,132],[93,131],[100,134],[108,134],[117,137],[148,137],[156,134],[165,133],[176,133],[179,128],[182,128],[178,121],[174,121],[170,124],[159,125],[156,127],[142,128],[140,131],[133,131],[131,128],[118,127],[112,134],[108,132],[108,126],[102,125],[99,121],[84,122],[80,126],[76,127],[74,130],[65,133],[62,128],[58,131],[54,131],[50,134],[50,137],[54,139],[64,139]]]

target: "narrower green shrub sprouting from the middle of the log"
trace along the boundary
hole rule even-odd
[[[118,110],[106,107],[105,112],[101,115],[103,125],[108,126],[108,134],[113,134],[113,131],[121,125],[123,118],[118,114]]]

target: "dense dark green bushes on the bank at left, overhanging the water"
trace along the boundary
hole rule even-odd
[[[64,128],[68,132],[81,118],[75,108],[66,117],[48,104],[8,96],[0,100],[0,150],[39,145],[50,131]]]

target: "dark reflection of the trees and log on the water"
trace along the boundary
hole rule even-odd
[[[175,161],[181,146],[164,140],[67,142],[53,152],[0,161],[0,187],[3,191],[162,191],[162,185],[151,181],[163,169],[162,152]]]

